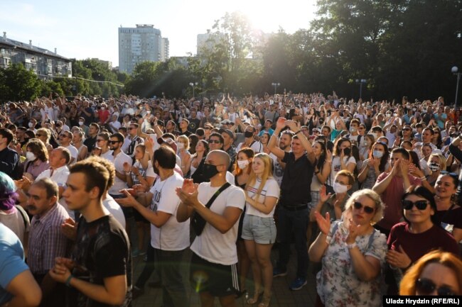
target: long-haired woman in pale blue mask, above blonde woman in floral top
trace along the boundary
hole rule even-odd
[[[387,145],[378,142],[372,145],[369,158],[362,163],[362,169],[358,175],[361,189],[372,189],[377,177],[390,169],[389,155]]]

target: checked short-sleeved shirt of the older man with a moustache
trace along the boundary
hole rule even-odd
[[[55,257],[65,257],[68,239],[61,232],[61,224],[68,217],[59,203],[43,216],[33,216],[27,257],[33,274],[45,274],[55,265]]]

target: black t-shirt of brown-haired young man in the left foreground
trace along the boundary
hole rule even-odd
[[[120,307],[131,306],[131,255],[127,233],[112,216],[87,223],[80,218],[77,240],[72,251],[72,260],[77,264],[72,274],[92,284],[104,285],[103,279],[127,274],[127,294]],[[72,288],[68,299],[73,307],[109,307],[81,294]],[[113,307],[113,306],[112,306]]]

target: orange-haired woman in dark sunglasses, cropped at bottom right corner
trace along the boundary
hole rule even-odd
[[[399,295],[462,295],[462,261],[435,250],[422,256],[404,275]]]

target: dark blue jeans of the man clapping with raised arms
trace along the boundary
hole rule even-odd
[[[297,252],[297,276],[306,279],[308,270],[308,249],[306,247],[306,229],[308,228],[308,207],[298,211],[289,211],[278,206],[279,262],[277,268],[287,269],[290,255],[292,230]]]

